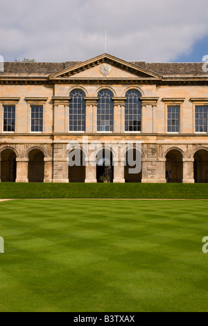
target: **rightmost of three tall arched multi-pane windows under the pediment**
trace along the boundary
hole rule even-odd
[[[141,94],[130,90],[125,94],[125,131],[141,132]]]

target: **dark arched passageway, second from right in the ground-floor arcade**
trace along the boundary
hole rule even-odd
[[[170,150],[166,154],[166,181],[167,183],[182,183],[183,157],[179,150]]]

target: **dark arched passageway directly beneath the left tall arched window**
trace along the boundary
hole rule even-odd
[[[69,163],[69,183],[85,183],[86,169],[85,169],[85,154],[83,150],[80,149],[71,150],[71,153],[69,153],[68,163]]]

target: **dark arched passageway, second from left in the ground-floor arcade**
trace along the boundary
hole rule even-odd
[[[44,182],[44,153],[42,150],[34,149],[28,155],[28,181],[29,183]]]

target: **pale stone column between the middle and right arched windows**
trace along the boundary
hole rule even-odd
[[[114,132],[125,132],[125,100],[127,98],[112,98],[114,101]]]

